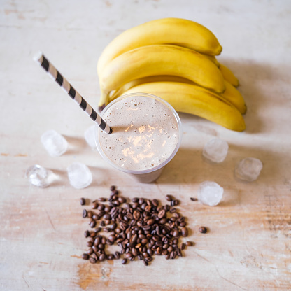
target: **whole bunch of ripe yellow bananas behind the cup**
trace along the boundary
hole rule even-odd
[[[246,104],[239,80],[215,57],[221,51],[215,35],[190,20],[164,18],[128,29],[99,58],[99,109],[122,94],[150,93],[176,111],[241,132]]]

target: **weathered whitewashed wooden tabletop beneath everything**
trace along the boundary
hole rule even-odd
[[[290,1],[0,1],[0,289],[1,290],[291,290]],[[92,122],[33,61],[43,50],[93,106],[97,59],[121,31],[159,17],[204,24],[223,46],[219,59],[239,78],[246,132],[181,114],[183,142],[156,183],[142,185],[105,164],[83,133]],[[64,134],[69,150],[50,157],[40,136]],[[214,136],[229,143],[225,162],[202,158]],[[244,157],[264,165],[253,183],[234,178]],[[90,187],[69,185],[66,167],[87,164]],[[59,180],[29,185],[32,164]],[[216,207],[190,201],[199,184],[225,189]],[[125,197],[180,200],[195,246],[178,260],[155,256],[148,267],[120,260],[90,264],[80,197],[96,199],[118,185]],[[207,234],[198,228],[208,227]]]

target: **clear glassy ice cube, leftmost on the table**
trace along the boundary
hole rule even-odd
[[[25,176],[29,179],[29,182],[37,187],[48,187],[54,180],[54,173],[51,170],[43,168],[38,164],[30,166]]]

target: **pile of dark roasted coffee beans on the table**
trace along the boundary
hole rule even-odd
[[[167,195],[170,205],[161,205],[157,199],[138,197],[129,202],[120,196],[115,186],[110,190],[108,199],[94,200],[90,210],[83,210],[83,218],[90,219],[91,228],[84,233],[89,247],[82,255],[84,260],[95,264],[122,259],[122,264],[126,264],[137,258],[148,266],[153,255],[175,259],[183,256],[182,250],[186,246],[193,245],[191,241],[179,243],[181,236],[188,236],[188,229],[185,217],[174,207],[178,200]],[[86,206],[86,199],[81,198],[80,204]],[[117,244],[120,251],[106,253],[107,246],[113,244]]]

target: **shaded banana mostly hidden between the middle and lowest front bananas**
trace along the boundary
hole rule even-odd
[[[126,83],[122,87],[120,87],[118,90],[115,90],[113,94],[109,97],[109,101],[113,101],[115,98],[119,97],[120,95],[124,94],[127,90],[129,90],[132,87],[135,87],[137,85],[141,85],[144,83],[150,83],[150,82],[180,82],[180,83],[187,83],[187,84],[194,84],[191,80],[178,77],[178,76],[149,76],[145,78],[139,78],[136,80],[132,80],[129,83]],[[211,91],[209,91],[211,93]],[[225,92],[220,93],[220,96],[229,101],[234,107],[236,107],[241,114],[246,113],[246,104],[241,96],[241,93],[239,90],[237,90],[234,86],[232,86],[230,83],[225,81]]]

